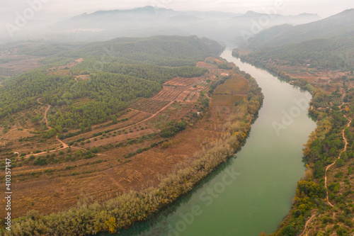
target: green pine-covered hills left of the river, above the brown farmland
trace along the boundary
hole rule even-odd
[[[222,50],[222,45],[206,38],[156,36],[118,38],[59,52],[47,57],[47,66],[0,86],[0,118],[32,108],[42,98],[55,108],[48,113],[55,129],[51,134],[62,128],[90,128],[115,120],[130,101],[154,96],[173,77],[205,74],[207,69],[195,64]],[[82,62],[67,67],[78,59]],[[82,74],[85,79],[76,78]]]

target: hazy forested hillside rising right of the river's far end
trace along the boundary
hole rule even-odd
[[[265,67],[269,60],[282,60],[319,69],[354,69],[354,9],[314,23],[264,30],[246,47],[253,52],[241,57]]]

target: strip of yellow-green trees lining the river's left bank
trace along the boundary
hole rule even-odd
[[[241,73],[236,67],[234,72],[246,76],[246,73]],[[13,223],[13,232],[26,230],[30,234],[38,232],[40,235],[85,235],[106,230],[117,232],[136,221],[149,218],[160,208],[175,201],[178,196],[193,189],[193,186],[231,157],[244,143],[246,133],[249,132],[253,117],[261,107],[263,99],[256,81],[251,77],[246,79],[253,93],[249,94],[248,100],[241,101],[235,107],[234,103],[216,105],[229,106],[232,116],[224,117],[226,125],[222,128],[222,137],[195,153],[196,160],[189,167],[170,174],[156,188],[128,193],[103,204],[83,203],[77,208],[45,216],[30,213],[28,217]],[[217,100],[213,98],[214,103]],[[215,111],[215,115],[217,113]],[[85,215],[84,219],[82,215]]]

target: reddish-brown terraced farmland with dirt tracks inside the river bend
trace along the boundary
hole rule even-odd
[[[75,63],[79,62],[53,67],[48,73],[64,75]],[[118,122],[108,120],[84,132],[70,129],[63,135],[72,133],[72,137],[63,136],[60,142],[54,137],[45,140],[41,135],[43,130],[50,130],[45,111],[55,114],[55,108],[46,104],[35,107],[36,123],[23,123],[28,130],[18,122],[18,115],[13,121],[16,125],[0,135],[1,142],[11,141],[11,150],[20,155],[13,176],[18,190],[15,217],[32,209],[57,212],[84,201],[85,196],[105,201],[130,190],[156,186],[162,176],[193,162],[193,153],[222,134],[222,116],[231,113],[236,101],[245,99],[243,95],[213,95],[207,112],[201,101],[208,99],[210,83],[232,73],[207,62],[198,62],[198,66],[209,67],[210,71],[202,77],[173,78],[152,98],[130,103],[117,114]],[[76,79],[80,81],[81,77]],[[249,87],[241,77],[233,77],[218,89],[228,86],[243,93]],[[74,104],[85,99],[76,99]],[[23,116],[28,113],[23,111]],[[172,137],[161,137],[173,120],[183,121],[187,127]],[[21,138],[27,141],[19,142]]]

